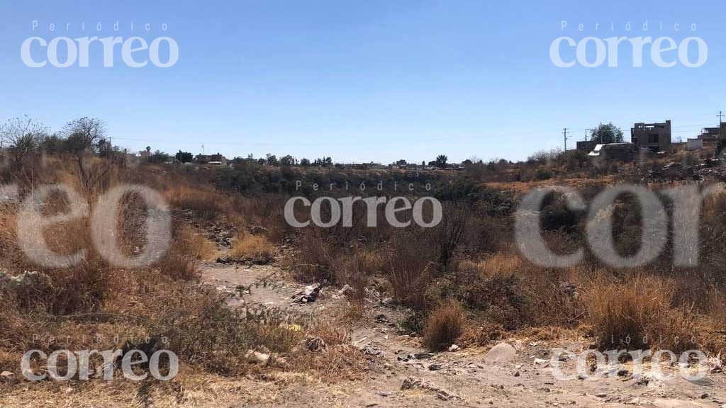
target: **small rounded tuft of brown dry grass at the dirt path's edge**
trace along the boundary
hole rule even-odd
[[[466,317],[459,303],[446,301],[431,312],[423,332],[423,344],[432,351],[441,351],[454,343],[464,332]]]

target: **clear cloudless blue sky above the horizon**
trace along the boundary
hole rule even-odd
[[[719,1],[6,0],[0,120],[29,115],[60,128],[89,115],[132,150],[196,154],[205,144],[229,158],[269,152],[343,162],[420,162],[441,153],[520,160],[561,147],[563,127],[573,131],[572,147],[584,128],[609,121],[628,138],[634,122],[672,119],[674,139],[685,140],[726,111],[723,8]],[[613,35],[698,36],[708,60],[659,68],[646,54],[643,68],[632,68],[624,46],[617,68],[550,61],[559,36]],[[32,36],[169,36],[179,61],[103,68],[102,49],[92,48],[90,68],[29,68],[20,48]]]

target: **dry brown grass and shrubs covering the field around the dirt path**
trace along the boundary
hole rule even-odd
[[[168,348],[192,367],[219,375],[298,370],[340,380],[336,373],[341,370],[351,376],[364,370],[345,327],[351,320],[369,318],[367,299],[373,291],[406,308],[409,317],[400,332],[421,336],[431,351],[452,344],[488,346],[518,332],[547,337],[558,330],[576,330],[603,350],[635,344],[675,352],[726,351],[721,334],[726,327],[726,252],[719,245],[726,234],[726,195],[714,195],[703,205],[698,266],[672,266],[670,241],[656,261],[637,269],[613,269],[587,249],[579,265],[544,268],[531,264],[515,248],[513,214],[529,189],[563,184],[592,200],[616,182],[643,182],[648,169],[664,164],[658,162],[661,159],[593,167],[580,152],[540,152],[523,163],[470,161],[457,172],[260,163],[200,171],[162,163],[132,166],[106,144],[102,123],[94,119],[69,123],[59,136],[38,139],[47,131],[28,129],[29,139],[18,139],[27,145],[18,144],[23,150],[12,150],[0,171],[4,185],[17,184],[21,197],[45,184],[67,185],[92,211],[113,187],[142,184],[160,192],[171,205],[173,240],[155,264],[121,269],[94,250],[86,214],[52,227],[37,226],[38,240],[56,253],[86,250],[84,261],[68,267],[38,266],[18,244],[20,203],[0,203],[0,371],[16,372],[18,377],[17,362],[30,349],[49,353],[122,344]],[[679,157],[689,163],[702,161],[695,155]],[[362,183],[369,188],[343,187]],[[415,188],[401,189],[409,183]],[[333,187],[316,190],[314,184]],[[375,188],[378,184],[380,189]],[[656,192],[664,187],[648,184]],[[433,228],[415,223],[394,228],[379,214],[378,227],[366,227],[364,208],[354,207],[352,227],[295,229],[282,216],[293,195],[311,200],[322,195],[433,195],[441,200],[444,218]],[[672,204],[664,203],[672,211]],[[127,254],[136,253],[144,245],[144,205],[131,194],[123,197],[121,208],[116,220],[121,247]],[[632,253],[641,240],[637,202],[625,195],[611,209],[616,248]],[[70,210],[62,195],[50,197],[43,208],[46,214]],[[301,208],[295,211],[305,216]],[[552,250],[571,253],[587,248],[584,229],[590,220],[586,213],[569,211],[561,195],[548,196],[539,215]],[[232,226],[229,256],[234,260],[279,262],[299,282],[346,288],[342,293],[351,309],[345,314],[348,322],[331,325],[229,308],[228,293],[200,280],[200,263],[213,261],[217,248],[199,226],[213,223]],[[282,245],[290,256],[280,257]],[[8,283],[11,280],[14,283]],[[327,352],[311,351],[305,346],[309,338],[322,339]],[[267,359],[263,369],[250,361],[250,351],[274,358]]]

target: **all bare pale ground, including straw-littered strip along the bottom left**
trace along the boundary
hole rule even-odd
[[[274,264],[208,262],[203,280],[235,293],[230,307],[279,308],[332,319],[346,303],[333,287],[322,290],[317,301],[296,302],[293,296],[305,285]],[[258,282],[266,284],[239,295],[238,287]],[[375,295],[370,309],[370,317],[355,323],[350,338],[367,359],[360,380],[330,384],[315,375],[290,372],[224,378],[181,367],[179,376],[166,384],[118,379],[0,385],[0,407],[726,407],[726,375],[720,372],[709,372],[698,383],[680,376],[661,381],[632,372],[597,380],[557,380],[549,367],[550,350],[579,352],[587,346],[584,340],[505,339],[516,355],[509,362],[489,364],[484,361],[488,348],[428,354],[419,338],[400,334],[397,323],[405,317],[404,310]],[[574,365],[561,363],[564,372],[574,372]]]

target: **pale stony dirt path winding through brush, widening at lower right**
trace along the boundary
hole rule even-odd
[[[230,306],[274,307],[318,318],[333,316],[346,300],[328,287],[313,303],[296,303],[293,295],[305,289],[277,266],[230,266],[205,264],[203,276],[218,290],[233,293],[239,285],[248,287],[266,280]],[[366,380],[325,385],[290,381],[272,385],[272,401],[248,400],[255,407],[726,407],[726,376],[709,374],[701,383],[676,376],[669,381],[633,377],[597,380],[556,380],[549,367],[550,350],[567,347],[582,351],[578,341],[534,341],[509,339],[516,355],[509,362],[487,364],[487,348],[463,348],[427,354],[420,341],[399,335],[403,310],[377,302],[373,319],[359,322],[351,343],[367,354],[370,370]],[[541,361],[541,360],[542,361]],[[562,362],[564,372],[574,372],[575,362]],[[402,390],[402,388],[409,389]],[[260,389],[270,385],[260,382]],[[237,407],[238,405],[229,405]]]

